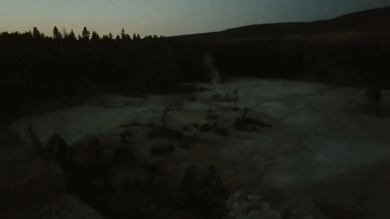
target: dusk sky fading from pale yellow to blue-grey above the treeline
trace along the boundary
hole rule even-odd
[[[390,0],[0,0],[0,31],[52,35],[53,26],[99,35],[182,35],[260,23],[329,19]]]

